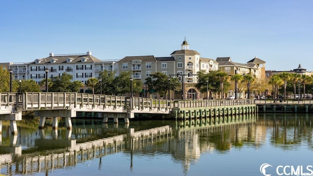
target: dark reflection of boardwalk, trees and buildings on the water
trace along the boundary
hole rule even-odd
[[[312,120],[310,114],[268,113],[186,121],[134,121],[127,126],[73,119],[72,130],[19,128],[18,135],[11,135],[9,127],[3,126],[0,174],[49,175],[58,169],[79,173],[76,166],[85,162],[97,162],[100,171],[107,168],[104,157],[123,153],[129,159],[130,173],[138,174],[140,168],[134,157],[151,159],[166,154],[173,158],[173,165],[181,164],[182,173],[188,175],[190,166],[201,162],[202,154],[226,156],[232,149],[259,149],[265,145],[290,151],[304,144],[311,146]]]

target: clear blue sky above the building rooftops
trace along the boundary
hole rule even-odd
[[[0,0],[0,62],[86,53],[167,57],[186,37],[201,57],[255,56],[313,71],[313,0]]]

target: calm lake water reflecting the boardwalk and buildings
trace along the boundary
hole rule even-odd
[[[69,131],[62,124],[58,130],[39,130],[38,121],[25,120],[18,123],[17,135],[11,135],[7,125],[2,127],[0,174],[300,175],[313,170],[312,122],[313,114],[270,113],[185,122],[131,121],[128,127],[72,119]],[[271,166],[262,174],[264,163]]]

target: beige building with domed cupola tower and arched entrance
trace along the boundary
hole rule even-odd
[[[219,63],[213,59],[201,58],[199,52],[189,49],[189,44],[186,40],[181,44],[180,50],[176,50],[170,55],[171,57],[155,57],[153,55],[124,57],[117,62],[118,74],[123,71],[131,71],[132,78],[140,79],[143,83],[145,83],[147,77],[155,72],[162,72],[165,75],[178,75],[182,84],[183,94],[174,95],[171,93],[170,97],[201,98],[199,90],[194,87],[195,83],[197,83],[197,77],[194,74],[197,74],[200,70],[205,70],[206,72],[218,70]]]

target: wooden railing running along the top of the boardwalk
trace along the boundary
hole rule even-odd
[[[102,108],[125,107],[126,109],[144,108],[196,108],[213,106],[235,106],[254,104],[253,99],[239,100],[163,100],[141,97],[98,95],[71,92],[26,92],[1,93],[1,106],[16,106],[17,110],[53,109],[73,106],[101,106]]]

